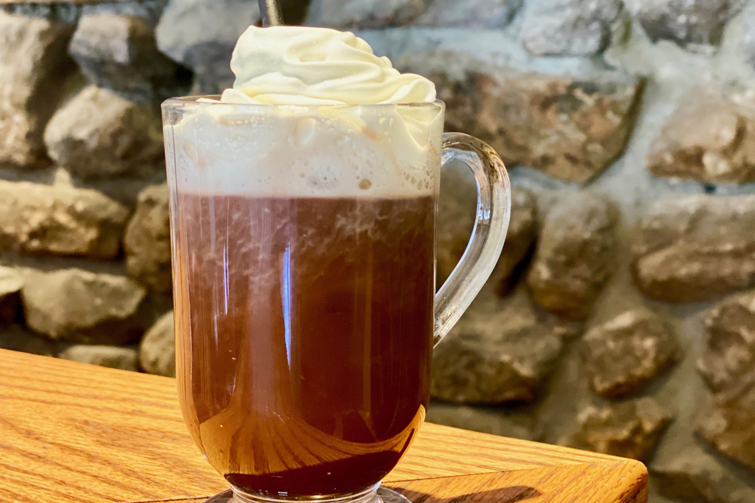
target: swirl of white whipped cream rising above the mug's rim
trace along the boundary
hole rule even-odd
[[[249,26],[231,57],[236,75],[223,103],[291,105],[421,103],[435,100],[423,76],[399,73],[351,32],[311,26]]]

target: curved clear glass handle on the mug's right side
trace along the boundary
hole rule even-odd
[[[464,255],[435,295],[433,347],[467,310],[492,273],[511,213],[511,184],[504,162],[487,143],[468,134],[443,134],[441,163],[464,162],[477,183],[477,215]]]

